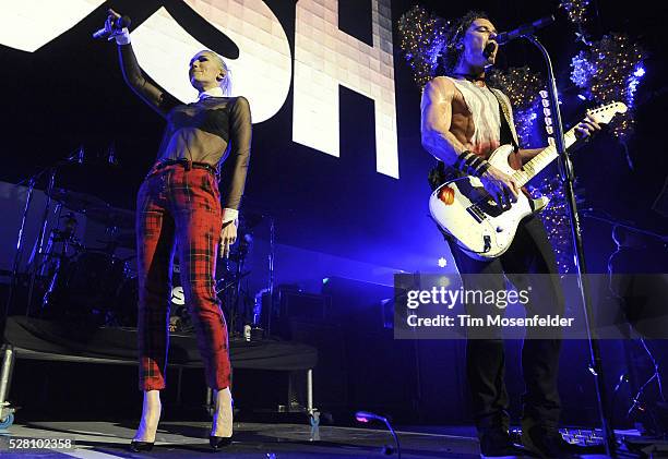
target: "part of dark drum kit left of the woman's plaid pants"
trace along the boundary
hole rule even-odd
[[[131,325],[136,317],[132,297],[136,289],[131,287],[136,282],[134,213],[85,193],[53,189],[48,194],[59,204],[57,208],[70,212],[60,216],[36,261],[38,280],[45,286],[39,315]],[[86,245],[77,238],[81,218],[105,228],[102,245]],[[119,254],[123,249],[126,256]]]

